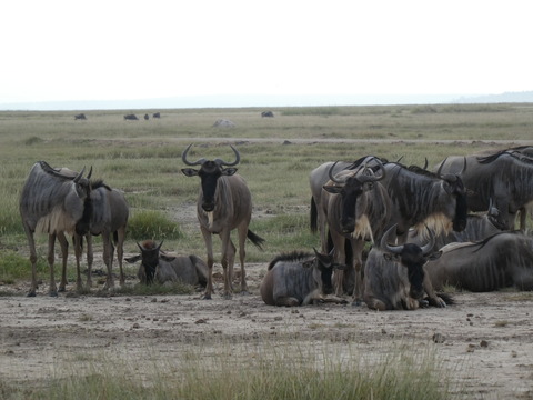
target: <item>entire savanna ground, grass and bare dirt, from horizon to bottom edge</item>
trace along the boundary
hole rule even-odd
[[[454,303],[445,309],[390,312],[276,308],[259,296],[275,254],[320,247],[309,222],[313,168],[368,154],[418,166],[428,159],[432,168],[447,156],[533,144],[533,104],[261,111],[83,111],[87,120],[74,120],[81,111],[0,112],[0,398],[533,399],[531,292],[447,288]],[[124,120],[130,112],[140,119]],[[220,119],[234,127],[213,127]],[[76,290],[70,249],[67,291],[52,298],[41,236],[38,294],[26,296],[31,267],[18,199],[39,160],[92,167],[93,178],[124,191],[127,256],[138,253],[137,241],[154,239],[167,251],[205,258],[199,180],[181,173],[190,143],[193,159],[231,160],[229,144],[240,151],[239,173],[253,199],[250,229],[265,239],[263,250],[247,246],[250,294],[220,294],[217,238],[212,300],[179,284],[142,287],[138,266],[128,263],[125,287],[104,291],[95,238],[93,287]],[[56,277],[60,266],[57,257]]]

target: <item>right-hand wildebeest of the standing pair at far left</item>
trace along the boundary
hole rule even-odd
[[[125,229],[128,226],[129,206],[124,194],[117,189],[111,189],[102,181],[92,183],[90,196],[84,202],[83,217],[76,226],[74,251],[78,268],[78,281],[80,278],[80,258],[83,237],[87,238],[87,263],[88,277],[87,286],[92,286],[92,236],[102,236],[103,242],[103,262],[108,269],[108,277],[104,289],[114,287],[112,274],[114,247],[117,244],[117,259],[120,269],[120,286],[125,284],[124,272],[122,269],[123,244],[125,239]]]

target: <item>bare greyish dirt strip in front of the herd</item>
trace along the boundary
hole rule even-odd
[[[94,361],[87,354],[180,357],[199,339],[215,347],[264,336],[282,341],[289,332],[301,343],[350,343],[366,356],[382,354],[399,343],[413,351],[432,348],[462,398],[533,399],[530,293],[463,292],[454,294],[456,303],[446,309],[416,311],[375,312],[365,306],[330,303],[276,308],[265,306],[259,296],[265,268],[249,264],[252,293],[231,300],[220,293],[213,300],[201,300],[201,293],[77,296],[73,287],[50,298],[46,280],[36,298],[27,298],[24,286],[0,284],[0,290],[16,292],[0,298],[1,380],[36,384],[72,373],[63,364],[73,361],[76,373],[82,373],[80,363]],[[130,277],[129,284],[134,283]]]

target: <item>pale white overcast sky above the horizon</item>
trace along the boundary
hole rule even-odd
[[[529,0],[10,0],[0,104],[533,90],[532,16]]]

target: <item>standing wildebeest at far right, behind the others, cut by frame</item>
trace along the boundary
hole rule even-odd
[[[463,157],[449,157],[438,168],[457,171]],[[484,211],[494,202],[505,221],[505,229],[513,230],[520,211],[520,228],[525,228],[526,208],[533,202],[533,158],[515,150],[502,150],[490,156],[467,156],[467,169],[460,172],[469,193],[469,209]]]

